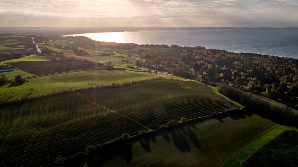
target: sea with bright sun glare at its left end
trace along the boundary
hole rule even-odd
[[[298,30],[156,30],[73,34],[97,41],[204,46],[230,52],[298,58]]]

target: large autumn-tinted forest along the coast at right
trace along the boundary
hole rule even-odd
[[[142,66],[201,82],[237,83],[286,103],[298,104],[298,60],[204,47],[147,52]]]

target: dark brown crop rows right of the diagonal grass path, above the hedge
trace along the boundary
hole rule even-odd
[[[194,119],[201,116],[238,108],[235,103],[226,100],[220,95],[188,95],[147,103],[134,108],[120,111],[142,124],[155,129],[169,120],[179,120],[181,117]]]

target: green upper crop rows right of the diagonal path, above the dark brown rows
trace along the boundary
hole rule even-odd
[[[215,93],[204,84],[174,80],[148,81],[121,88],[104,89],[97,93],[92,89],[82,92],[89,100],[115,111],[191,94]],[[117,103],[114,103],[115,100]]]

